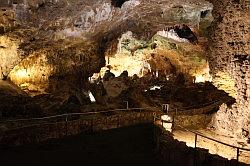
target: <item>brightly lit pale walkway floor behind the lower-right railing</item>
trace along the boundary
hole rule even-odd
[[[237,146],[237,147],[243,147],[246,149],[250,149],[250,144],[242,144],[231,137],[221,135],[219,133],[216,133],[214,131],[208,130],[208,129],[202,129],[197,130],[197,132],[202,133],[204,136],[207,136],[209,138],[216,139],[218,141]],[[191,132],[187,132],[184,130],[175,130],[174,131],[174,138],[179,141],[186,142],[187,146],[194,147],[195,144],[195,135]],[[236,149],[231,148],[229,146],[222,145],[220,143],[216,143],[212,140],[203,138],[198,136],[197,137],[197,147],[209,149],[209,153],[211,154],[218,154],[219,156],[228,158],[228,159],[236,159]],[[240,162],[244,162],[247,164],[250,164],[250,151],[240,151]]]

